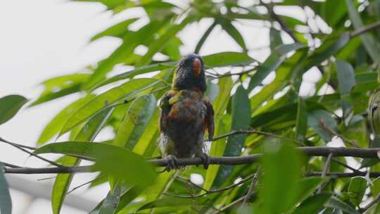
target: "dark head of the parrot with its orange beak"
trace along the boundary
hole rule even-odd
[[[206,91],[205,68],[201,56],[191,53],[179,61],[173,75],[172,89]]]

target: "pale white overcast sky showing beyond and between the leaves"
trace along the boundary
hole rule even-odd
[[[127,11],[112,16],[104,12],[101,4],[67,2],[57,0],[13,0],[0,1],[0,97],[8,94],[21,94],[29,99],[35,99],[42,92],[39,83],[56,77],[76,72],[89,64],[94,64],[108,56],[120,41],[114,38],[99,39],[89,44],[89,38],[110,26],[129,17],[139,17],[142,11]],[[293,15],[303,17],[302,11],[296,8],[288,10]],[[190,53],[200,32],[204,32],[212,20],[193,24],[179,34],[184,46],[182,54]],[[249,48],[268,46],[268,30],[262,28],[262,22],[236,23],[243,32]],[[139,27],[139,26],[136,26]],[[241,51],[239,46],[227,34],[216,27],[201,54],[220,51]],[[289,37],[284,35],[287,42]],[[270,53],[269,49],[252,51],[250,55],[263,61]],[[44,126],[64,106],[77,98],[77,95],[44,103],[42,106],[24,108],[18,115],[6,124],[0,126],[0,136],[10,141],[34,146],[35,141]],[[25,166],[46,166],[35,158],[28,158],[10,146],[0,144],[1,161]],[[47,156],[53,157],[53,156]],[[53,180],[37,181],[49,175],[21,175],[24,179],[39,184],[49,184]],[[91,175],[76,175],[72,185],[82,184],[91,179]],[[51,191],[51,187],[46,191]],[[94,201],[100,201],[106,196],[108,187],[103,185],[90,189],[82,188],[72,194],[79,194]],[[50,201],[32,197],[20,191],[11,191],[13,198],[13,213],[51,213]],[[31,204],[30,204],[31,203]],[[65,206],[61,213],[84,213]]]

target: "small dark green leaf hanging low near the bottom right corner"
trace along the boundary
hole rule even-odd
[[[350,201],[355,206],[359,206],[362,203],[363,196],[367,189],[367,181],[364,177],[353,177],[348,185],[348,194],[350,195]]]

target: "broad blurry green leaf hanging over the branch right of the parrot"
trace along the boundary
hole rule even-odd
[[[297,195],[302,192],[297,184],[300,161],[300,153],[289,142],[272,139],[264,145],[262,168],[265,174],[259,191],[262,213],[286,213],[295,205]]]

